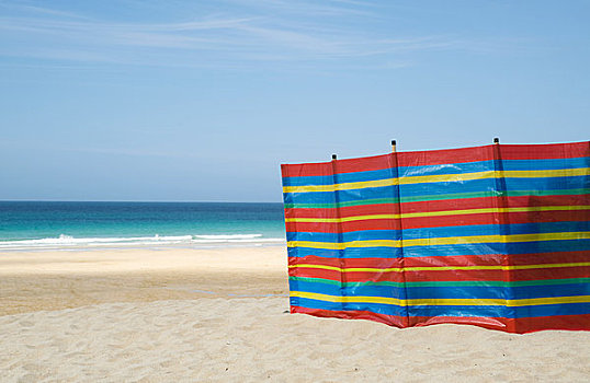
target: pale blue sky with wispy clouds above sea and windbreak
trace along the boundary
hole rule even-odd
[[[0,200],[281,201],[281,163],[590,132],[590,1],[0,0]]]

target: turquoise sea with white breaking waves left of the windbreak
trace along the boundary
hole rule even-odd
[[[285,242],[283,204],[0,201],[0,251]]]

